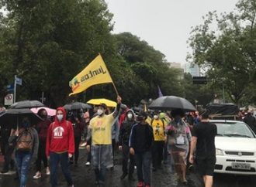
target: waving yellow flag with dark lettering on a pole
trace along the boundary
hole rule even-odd
[[[69,87],[72,89],[72,93],[69,95],[81,93],[88,87],[100,83],[112,83],[112,78],[101,55],[93,59],[84,70],[69,82]]]

